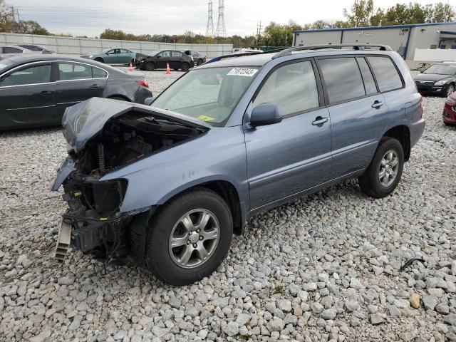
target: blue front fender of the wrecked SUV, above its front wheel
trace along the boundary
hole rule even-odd
[[[138,160],[100,179],[128,180],[121,212],[164,204],[204,182],[234,186],[241,203],[249,203],[247,162],[242,126],[212,128],[204,136]]]

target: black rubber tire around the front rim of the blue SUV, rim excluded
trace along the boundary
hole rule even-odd
[[[195,209],[208,210],[217,217],[219,237],[208,259],[199,266],[184,268],[172,259],[169,247],[170,234],[177,222],[186,213]],[[168,284],[176,286],[192,284],[217,269],[227,256],[232,235],[233,220],[227,203],[216,192],[198,187],[171,199],[152,216],[147,232],[145,264],[158,278]]]

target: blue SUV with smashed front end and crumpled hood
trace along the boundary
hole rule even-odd
[[[393,193],[425,128],[421,95],[390,48],[340,47],[224,58],[149,107],[68,108],[56,257],[71,243],[190,284],[254,214],[354,177],[370,197]]]

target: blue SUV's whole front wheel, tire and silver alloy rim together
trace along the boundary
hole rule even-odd
[[[217,269],[232,234],[232,214],[224,199],[196,188],[172,199],[150,219],[145,263],[169,284],[192,284]]]

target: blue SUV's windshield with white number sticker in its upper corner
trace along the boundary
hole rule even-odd
[[[153,107],[221,126],[257,75],[258,68],[206,68],[190,71],[167,88]]]

